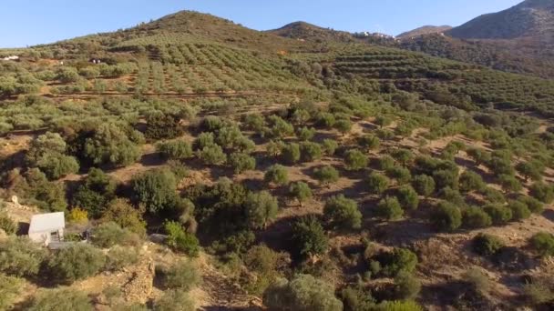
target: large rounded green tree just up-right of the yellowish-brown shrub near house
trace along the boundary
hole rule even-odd
[[[177,180],[167,169],[154,169],[134,177],[131,188],[137,201],[153,214],[174,206],[177,200]]]

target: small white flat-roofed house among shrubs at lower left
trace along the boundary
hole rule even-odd
[[[29,238],[48,246],[52,242],[63,241],[65,228],[64,212],[34,215],[29,226]]]

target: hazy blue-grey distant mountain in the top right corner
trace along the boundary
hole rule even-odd
[[[464,39],[516,39],[532,37],[552,43],[554,0],[527,0],[507,10],[481,15],[447,32]]]

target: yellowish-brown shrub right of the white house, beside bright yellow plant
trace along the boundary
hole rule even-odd
[[[111,201],[100,221],[114,222],[139,236],[146,235],[146,222],[142,219],[142,211],[131,206],[126,199],[117,198]]]

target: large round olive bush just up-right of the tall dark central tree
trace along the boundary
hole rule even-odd
[[[344,230],[359,229],[362,226],[362,213],[354,200],[343,195],[333,196],[323,207],[323,217],[335,228]]]

